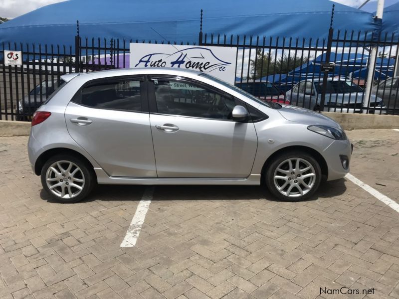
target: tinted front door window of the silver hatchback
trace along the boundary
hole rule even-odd
[[[178,79],[156,79],[158,113],[228,120],[235,101],[196,83]]]

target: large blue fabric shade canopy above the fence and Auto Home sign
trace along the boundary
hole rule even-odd
[[[329,0],[68,0],[0,25],[1,42],[73,44],[80,35],[198,42],[203,32],[326,38]],[[371,13],[335,3],[334,28],[373,31]]]

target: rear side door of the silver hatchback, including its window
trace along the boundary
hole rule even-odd
[[[147,84],[139,77],[95,80],[65,110],[71,137],[110,176],[157,176]]]

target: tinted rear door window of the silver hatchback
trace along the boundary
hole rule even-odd
[[[92,84],[82,89],[80,101],[93,108],[141,111],[140,81]]]

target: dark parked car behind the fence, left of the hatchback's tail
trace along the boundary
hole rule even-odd
[[[28,95],[18,102],[17,121],[27,121],[33,116],[37,108],[50,97],[54,91],[62,85],[63,80],[57,78],[42,81],[33,88]]]

